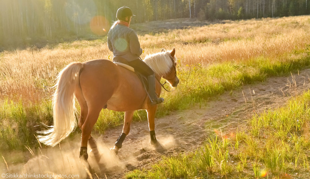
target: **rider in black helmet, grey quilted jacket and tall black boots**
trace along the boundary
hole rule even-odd
[[[133,29],[129,28],[132,16],[135,15],[132,14],[129,7],[123,6],[117,10],[116,17],[118,20],[112,25],[108,33],[108,47],[113,52],[113,59],[115,57],[125,59],[135,71],[147,77],[151,105],[156,105],[162,103],[164,99],[158,98],[155,93],[154,71],[140,58],[142,49],[138,36]]]

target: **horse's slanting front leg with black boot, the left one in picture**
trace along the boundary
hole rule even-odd
[[[115,152],[115,154],[118,153],[118,150],[122,148],[122,143],[125,140],[126,136],[129,134],[130,131],[130,124],[132,121],[132,116],[134,115],[135,111],[126,111],[125,117],[124,117],[124,126],[122,134],[118,137],[117,141],[115,142],[114,147],[111,149]]]

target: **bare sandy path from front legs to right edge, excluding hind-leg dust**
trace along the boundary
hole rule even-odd
[[[126,172],[139,168],[151,168],[163,156],[192,152],[201,146],[214,130],[224,134],[245,128],[247,119],[253,114],[261,114],[268,108],[277,108],[292,96],[300,95],[310,86],[310,69],[285,77],[268,78],[263,83],[245,85],[240,90],[226,92],[206,105],[196,105],[193,109],[175,111],[169,116],[155,119],[157,139],[162,149],[154,149],[150,144],[148,123],[134,122],[126,137],[118,158],[126,167],[114,167],[102,171],[107,178],[123,178]],[[113,146],[122,127],[110,129],[100,139],[105,145]],[[95,176],[94,176],[95,177]],[[105,176],[101,175],[102,178]]]

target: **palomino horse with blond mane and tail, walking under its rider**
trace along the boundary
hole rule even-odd
[[[156,78],[165,78],[173,87],[179,83],[176,76],[175,49],[149,55],[144,62],[155,72]],[[151,106],[145,89],[138,76],[113,62],[104,59],[90,60],[84,63],[73,62],[67,65],[58,75],[57,88],[53,97],[54,126],[47,131],[39,132],[39,141],[45,145],[55,146],[66,138],[75,128],[75,98],[81,106],[78,126],[82,129],[80,157],[88,158],[87,143],[95,153],[97,145],[91,137],[102,108],[114,111],[125,111],[122,141],[128,135],[130,123],[135,110],[147,110],[148,127],[151,143],[156,144],[154,117],[157,105]],[[161,85],[156,82],[156,93],[161,93]],[[124,133],[124,134],[123,134]],[[119,141],[119,140],[117,140]],[[117,153],[122,141],[114,146]],[[98,159],[99,160],[99,159]]]

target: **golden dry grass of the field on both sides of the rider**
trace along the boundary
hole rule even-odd
[[[183,65],[247,61],[258,56],[275,58],[305,47],[310,41],[310,16],[278,19],[222,21],[190,29],[140,36],[145,54],[176,48]],[[0,56],[0,90],[3,99],[36,103],[49,98],[60,69],[73,61],[111,58],[106,39],[75,41],[55,48],[4,51]]]

